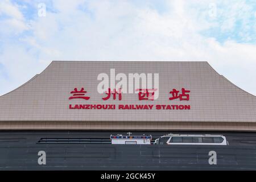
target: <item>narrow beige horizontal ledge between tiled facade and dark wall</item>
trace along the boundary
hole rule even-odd
[[[161,130],[256,131],[256,123],[239,122],[0,122],[1,130]]]

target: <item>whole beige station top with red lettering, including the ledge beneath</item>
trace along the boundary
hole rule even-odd
[[[0,97],[0,130],[256,131],[256,97],[207,62],[53,61]]]

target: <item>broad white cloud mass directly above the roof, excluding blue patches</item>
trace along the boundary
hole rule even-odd
[[[242,7],[233,3],[233,10],[216,1],[221,9],[211,19],[210,2],[205,1],[166,1],[169,11],[164,13],[131,1],[53,1],[57,13],[47,12],[46,17],[32,20],[31,35],[19,44],[9,42],[3,49],[0,63],[13,81],[3,82],[7,89],[0,93],[27,81],[51,60],[166,60],[209,61],[234,84],[256,94],[252,79],[256,77],[255,44],[220,43],[200,34],[217,26],[232,31],[237,19],[246,20],[253,12],[241,2]],[[240,8],[249,13],[241,14]],[[13,50],[18,53],[11,53]]]

